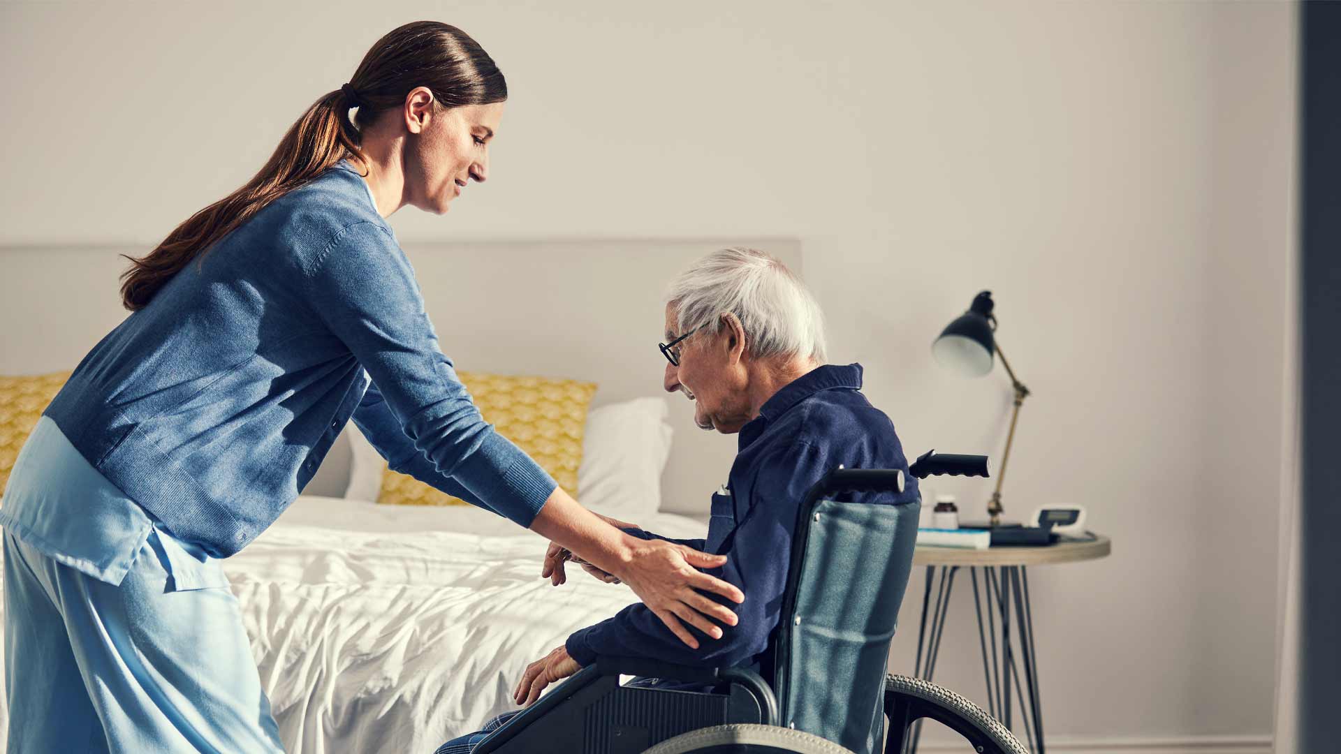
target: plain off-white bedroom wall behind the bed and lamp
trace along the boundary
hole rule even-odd
[[[402,239],[799,237],[834,360],[866,366],[911,451],[999,453],[1004,376],[960,381],[928,354],[991,288],[1034,390],[1007,514],[1080,502],[1114,539],[1108,559],[1031,573],[1050,739],[1259,741],[1293,16],[1271,3],[4,4],[0,243],[149,248],[249,177],[380,34],[448,20],[498,59],[512,98],[492,180],[447,217],[397,215]],[[990,491],[936,488],[970,513]],[[920,594],[919,574],[892,657],[904,672]],[[937,679],[982,700],[957,597]]]

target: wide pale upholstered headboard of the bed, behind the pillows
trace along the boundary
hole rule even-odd
[[[457,369],[543,374],[601,385],[595,404],[661,392],[661,294],[689,262],[724,246],[752,246],[798,274],[787,239],[405,241],[443,350]],[[0,374],[72,369],[125,315],[117,276],[143,247],[0,248]],[[736,439],[693,425],[670,401],[675,443],[662,507],[705,514],[725,480]],[[343,439],[304,490],[341,495],[349,480]]]

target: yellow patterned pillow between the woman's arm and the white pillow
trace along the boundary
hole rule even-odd
[[[582,431],[595,382],[457,372],[484,420],[535,459],[574,498],[582,463]],[[464,506],[460,498],[392,470],[382,472],[377,502],[392,506]]]

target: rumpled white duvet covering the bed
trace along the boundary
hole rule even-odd
[[[543,546],[477,508],[299,498],[225,561],[286,749],[428,754],[514,708],[527,663],[636,600],[577,569],[550,586]]]

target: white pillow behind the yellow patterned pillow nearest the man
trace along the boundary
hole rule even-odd
[[[587,508],[614,518],[650,515],[661,507],[661,472],[670,457],[670,425],[662,397],[633,398],[587,413],[578,467],[578,495]],[[353,449],[346,499],[377,502],[386,460],[358,427],[346,425]]]

